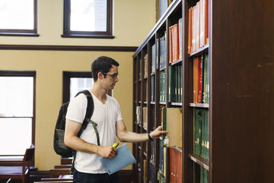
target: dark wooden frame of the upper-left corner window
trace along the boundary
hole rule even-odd
[[[34,0],[34,29],[0,29],[0,36],[34,36],[37,34],[37,0]]]

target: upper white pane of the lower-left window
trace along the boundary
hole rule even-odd
[[[33,77],[0,77],[0,115],[32,117]]]

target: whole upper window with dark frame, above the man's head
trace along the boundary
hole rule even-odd
[[[114,38],[112,0],[64,0],[62,37]]]

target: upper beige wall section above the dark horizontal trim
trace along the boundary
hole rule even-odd
[[[2,36],[1,44],[138,46],[155,25],[155,0],[113,0],[114,39],[61,38],[63,1],[38,0],[39,37]]]

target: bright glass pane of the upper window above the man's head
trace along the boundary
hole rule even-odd
[[[71,0],[71,31],[106,32],[107,0]]]

